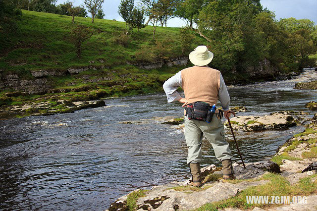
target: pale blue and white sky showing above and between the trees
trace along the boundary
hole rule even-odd
[[[57,0],[56,4],[66,0]],[[80,5],[84,0],[72,0],[75,5]],[[103,10],[106,14],[105,19],[115,19],[123,21],[118,14],[118,6],[121,0],[105,0]],[[135,0],[137,3],[137,0]],[[317,0],[261,0],[263,8],[267,7],[274,11],[276,19],[295,17],[296,19],[308,18],[317,24]],[[173,18],[167,21],[168,27],[182,27],[186,23],[180,18]]]

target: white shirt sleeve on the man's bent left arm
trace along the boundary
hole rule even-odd
[[[182,87],[181,71],[170,77],[163,84],[163,89],[167,97],[167,103],[172,103],[182,98],[176,91],[178,87]]]

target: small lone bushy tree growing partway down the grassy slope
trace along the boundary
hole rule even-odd
[[[81,57],[82,44],[95,34],[95,30],[85,25],[79,25],[71,29],[69,40],[75,45],[77,57]]]

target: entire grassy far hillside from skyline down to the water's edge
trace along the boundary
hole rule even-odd
[[[36,79],[31,74],[34,71],[65,73],[70,67],[91,68],[74,75],[45,76],[51,87],[47,94],[30,95],[5,87],[0,91],[0,113],[12,106],[32,107],[30,105],[34,103],[50,105],[50,108],[37,109],[38,113],[46,113],[51,108],[59,112],[65,106],[54,104],[58,100],[87,101],[162,91],[162,83],[185,67],[163,66],[143,70],[127,64],[182,56],[180,28],[158,27],[155,41],[152,39],[153,26],[147,26],[140,32],[134,29],[129,42],[120,45],[125,23],[115,20],[95,19],[95,23],[91,23],[91,18],[75,17],[72,24],[70,16],[22,10],[21,19],[16,24],[16,31],[0,34],[2,78],[17,74],[20,81],[31,81]],[[83,45],[81,58],[76,57],[76,49],[69,42],[69,32],[78,24],[92,26],[97,31]],[[195,35],[193,48],[202,44],[206,44],[205,40]],[[22,111],[19,114],[34,113],[31,109]]]

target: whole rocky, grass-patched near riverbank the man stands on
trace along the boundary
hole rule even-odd
[[[246,169],[235,162],[235,180],[221,179],[221,167],[210,165],[202,168],[204,184],[200,188],[187,185],[187,180],[154,186],[151,190],[138,189],[120,197],[108,210],[315,210],[317,163],[312,163],[317,161],[316,120],[317,114],[306,130],[280,146],[271,160],[246,163]],[[308,200],[305,205],[246,203],[248,196],[275,195],[290,196],[291,200],[293,196],[308,196]]]

